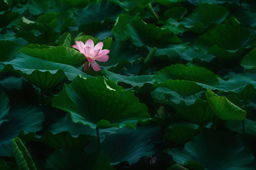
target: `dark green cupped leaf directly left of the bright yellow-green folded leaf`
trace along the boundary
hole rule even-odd
[[[202,99],[196,99],[190,105],[185,101],[175,103],[171,100],[162,100],[162,103],[173,106],[185,119],[199,126],[206,125],[215,117],[215,114],[211,110],[209,103],[203,101]]]

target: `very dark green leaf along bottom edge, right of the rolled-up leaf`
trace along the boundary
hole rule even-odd
[[[71,156],[72,155],[72,156]],[[102,153],[86,153],[78,148],[56,150],[46,160],[46,170],[114,170]]]

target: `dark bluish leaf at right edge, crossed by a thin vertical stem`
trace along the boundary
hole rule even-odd
[[[225,126],[233,132],[243,133],[243,125],[239,120],[229,120]],[[245,132],[246,134],[256,135],[256,121],[245,119]]]

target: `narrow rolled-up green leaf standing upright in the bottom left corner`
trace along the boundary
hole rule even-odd
[[[15,137],[12,139],[12,150],[19,170],[37,170],[35,162],[22,141]]]

